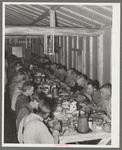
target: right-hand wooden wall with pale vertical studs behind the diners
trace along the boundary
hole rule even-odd
[[[100,36],[60,36],[59,39],[61,49],[56,53],[56,63],[98,80],[100,86],[111,82],[111,28],[105,28]]]

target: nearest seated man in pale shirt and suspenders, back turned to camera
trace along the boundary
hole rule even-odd
[[[24,144],[58,144],[59,131],[50,133],[45,121],[51,113],[52,104],[43,100],[39,111],[25,116],[19,125],[18,141]]]

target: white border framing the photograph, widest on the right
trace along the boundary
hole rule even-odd
[[[113,6],[113,24],[112,24],[112,42],[111,42],[111,77],[112,77],[112,144],[111,145],[69,145],[65,144],[5,144],[4,143],[4,60],[5,60],[5,5],[7,4],[58,4],[58,5],[112,5]],[[39,3],[39,2],[3,2],[2,5],[2,146],[3,147],[87,147],[87,148],[119,148],[120,146],[120,3]]]

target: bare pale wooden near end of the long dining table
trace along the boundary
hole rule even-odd
[[[93,129],[88,133],[69,132],[68,126],[64,127],[65,133],[59,137],[59,144],[78,143],[99,140],[97,145],[106,145],[111,140],[111,133],[104,132],[102,128]]]

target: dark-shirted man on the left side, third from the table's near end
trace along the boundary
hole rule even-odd
[[[22,93],[18,96],[16,105],[15,105],[16,116],[18,115],[19,110],[30,101],[29,96],[31,96],[34,92],[33,91],[34,87],[33,87],[32,82],[30,81],[24,82],[21,90],[22,90]]]

